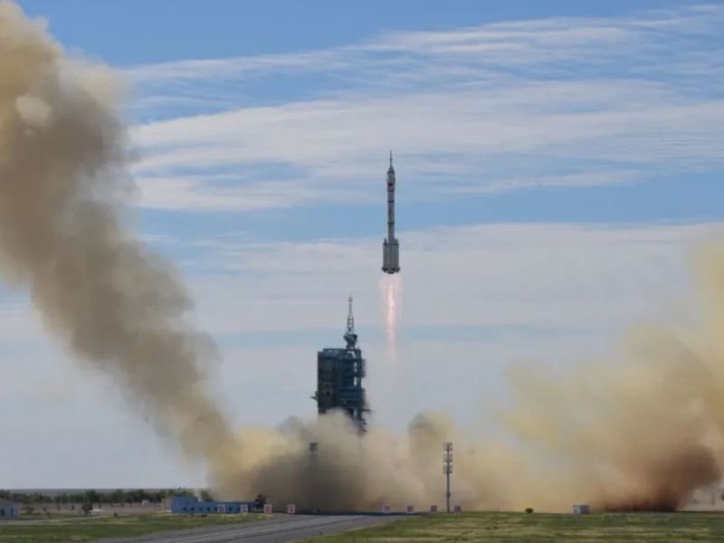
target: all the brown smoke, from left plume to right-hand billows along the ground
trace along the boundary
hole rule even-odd
[[[419,415],[403,435],[373,421],[360,437],[341,414],[236,432],[207,392],[203,364],[215,349],[189,326],[186,291],[123,228],[129,153],[117,93],[110,71],[67,59],[41,25],[0,3],[2,274],[30,290],[75,357],[113,376],[159,433],[206,462],[220,496],[263,492],[324,510],[442,504],[444,441],[455,443],[452,490],[467,509],[673,509],[719,481],[719,247],[697,268],[700,329],[633,330],[621,357],[572,375],[511,372],[514,407],[495,417],[498,440],[476,440],[441,414]]]

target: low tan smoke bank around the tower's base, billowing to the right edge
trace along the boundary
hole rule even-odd
[[[243,432],[256,455],[219,488],[262,489],[320,509],[442,503],[442,443],[455,445],[453,492],[469,509],[677,510],[721,479],[724,459],[724,247],[694,263],[700,319],[628,331],[615,356],[554,371],[510,367],[510,406],[478,428],[424,413],[402,435],[344,416]],[[401,386],[404,386],[401,385]],[[494,424],[501,437],[475,439]],[[309,452],[307,443],[319,443]],[[245,486],[248,485],[248,486]]]

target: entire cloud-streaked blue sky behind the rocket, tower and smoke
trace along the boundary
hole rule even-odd
[[[504,397],[509,364],[575,361],[662,308],[689,315],[687,258],[724,201],[720,3],[20,5],[119,72],[138,155],[129,224],[188,282],[239,424],[314,416],[315,350],[341,341],[350,292],[376,417],[397,428],[425,408],[472,421]],[[377,285],[390,148],[395,358]],[[44,421],[0,426],[20,436],[0,485],[203,482],[112,383],[58,353],[23,296],[0,311],[0,364],[18,372],[0,391]],[[144,443],[145,462],[53,469],[99,433],[99,458]]]

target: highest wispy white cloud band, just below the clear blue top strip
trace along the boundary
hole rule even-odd
[[[655,50],[670,45],[662,40],[664,37],[687,39],[687,48],[668,51],[671,61],[672,54],[686,58],[692,52],[703,52],[707,39],[719,33],[721,17],[721,5],[691,5],[620,18],[557,17],[443,31],[387,32],[365,43],[326,50],[157,62],[130,66],[124,72],[138,83],[232,79],[278,75],[281,71],[386,70],[409,67],[414,57],[426,61],[457,57],[466,66],[498,65],[506,71],[512,65],[543,61],[548,69],[552,62],[580,59],[591,52],[595,54],[586,64],[595,66],[607,62],[614,53],[631,55],[632,45]],[[602,46],[606,47],[605,54],[600,51]],[[712,58],[710,62],[718,60]],[[386,79],[390,75],[394,74],[387,73]]]

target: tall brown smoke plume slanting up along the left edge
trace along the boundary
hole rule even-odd
[[[0,266],[46,329],[141,399],[192,458],[231,429],[205,392],[214,344],[191,329],[174,272],[124,230],[132,187],[109,70],[71,62],[43,25],[0,3]]]

